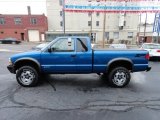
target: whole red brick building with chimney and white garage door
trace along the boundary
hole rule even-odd
[[[30,7],[28,15],[0,14],[0,39],[13,37],[22,41],[44,41],[47,30],[47,17],[32,15]]]

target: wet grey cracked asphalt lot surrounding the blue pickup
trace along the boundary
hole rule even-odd
[[[111,88],[96,74],[50,75],[33,88],[18,85],[8,58],[36,44],[0,44],[0,120],[159,120],[160,61]]]

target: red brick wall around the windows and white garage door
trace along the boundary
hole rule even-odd
[[[14,23],[15,17],[20,17],[22,23],[16,25]],[[0,18],[5,19],[5,24],[0,24],[0,39],[13,37],[22,40],[21,34],[24,34],[24,40],[28,41],[28,30],[38,30],[41,34],[48,30],[48,22],[45,15],[0,15]],[[30,18],[36,18],[37,24],[31,24]]]

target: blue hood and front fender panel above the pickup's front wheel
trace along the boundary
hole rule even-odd
[[[32,58],[37,61],[40,61],[40,55],[41,51],[29,51],[29,52],[24,52],[24,53],[19,53],[11,56],[11,61],[14,63],[18,59],[27,59],[27,58]]]

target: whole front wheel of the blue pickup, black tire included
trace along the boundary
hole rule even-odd
[[[17,82],[23,87],[33,87],[38,84],[39,76],[35,68],[22,66],[16,73]]]

